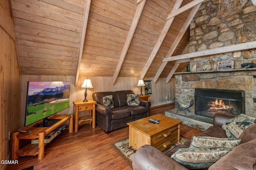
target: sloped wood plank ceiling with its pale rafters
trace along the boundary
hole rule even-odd
[[[187,52],[189,15],[200,4],[170,14],[190,2],[12,0],[22,75],[102,76],[113,83],[117,77],[170,78],[188,60],[163,60]]]

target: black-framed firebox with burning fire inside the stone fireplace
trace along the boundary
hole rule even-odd
[[[227,89],[195,89],[195,114],[214,117],[216,113],[245,114],[245,92]]]

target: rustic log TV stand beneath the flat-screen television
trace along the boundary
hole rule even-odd
[[[73,115],[53,115],[49,117],[50,119],[61,119],[60,121],[54,123],[51,127],[35,127],[34,124],[29,125],[28,127],[23,128],[22,130],[32,132],[29,133],[21,133],[21,132],[13,132],[12,133],[12,160],[18,159],[19,156],[36,156],[38,155],[38,161],[44,159],[44,146],[47,143],[44,143],[44,135],[50,133],[52,130],[56,129],[64,122],[69,120],[68,130],[69,133],[73,132]],[[37,122],[40,123],[40,122]],[[58,133],[59,134],[59,133]],[[23,146],[21,149],[19,148],[20,139],[36,139],[38,138],[38,144],[28,143],[26,146]]]

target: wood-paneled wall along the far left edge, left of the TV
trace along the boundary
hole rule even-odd
[[[14,24],[8,0],[0,0],[0,160],[10,160],[8,132],[20,128],[20,84]]]

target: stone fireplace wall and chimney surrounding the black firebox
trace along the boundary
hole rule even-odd
[[[256,41],[255,11],[247,0],[207,0],[190,24],[190,52]],[[220,61],[230,60],[232,69],[218,69]],[[192,72],[175,73],[175,97],[189,105],[196,88],[244,91],[245,107],[239,112],[256,117],[256,68],[243,69],[242,63],[256,63],[256,49],[191,58]]]

